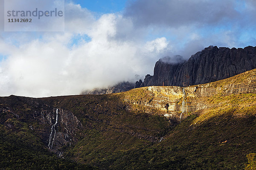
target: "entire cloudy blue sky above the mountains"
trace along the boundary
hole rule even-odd
[[[3,16],[0,0],[0,96],[75,95],[144,79],[166,56],[256,46],[255,0],[65,0],[57,32],[4,31]]]

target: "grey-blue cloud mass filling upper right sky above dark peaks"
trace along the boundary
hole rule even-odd
[[[124,17],[133,21],[134,29],[153,30],[155,35],[166,37],[173,47],[171,54],[188,58],[208,45],[230,48],[255,45],[255,0],[128,2]]]

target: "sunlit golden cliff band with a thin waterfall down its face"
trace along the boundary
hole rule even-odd
[[[227,95],[256,93],[256,69],[202,85],[189,87],[150,86],[122,94],[131,110],[158,113],[171,119],[185,119],[190,113],[211,109],[227,103],[212,104],[209,101]]]

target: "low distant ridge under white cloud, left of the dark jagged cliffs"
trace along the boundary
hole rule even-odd
[[[134,88],[134,83],[131,82],[119,82],[110,88],[95,88],[91,91],[83,91],[81,94],[111,94],[129,91]]]

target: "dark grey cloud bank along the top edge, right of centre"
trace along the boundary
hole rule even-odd
[[[239,16],[233,0],[137,0],[128,5],[125,16],[138,26],[216,25]]]

